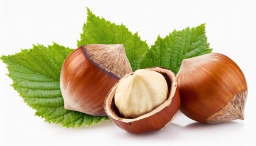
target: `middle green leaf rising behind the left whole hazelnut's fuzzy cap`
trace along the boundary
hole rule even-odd
[[[89,9],[87,23],[80,34],[80,41],[77,41],[78,47],[85,44],[124,44],[133,71],[138,69],[139,61],[149,48],[146,41],[141,41],[138,33],[132,34],[123,24],[116,25],[99,18]]]

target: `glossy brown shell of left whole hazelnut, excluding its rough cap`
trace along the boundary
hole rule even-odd
[[[106,82],[107,81],[107,82]],[[96,67],[76,49],[63,64],[60,88],[64,107],[73,111],[103,116],[105,96],[118,79]],[[97,90],[101,92],[96,92]]]

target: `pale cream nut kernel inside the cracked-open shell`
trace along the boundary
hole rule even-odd
[[[146,114],[168,97],[168,85],[162,74],[138,69],[116,88],[115,105],[126,118]]]

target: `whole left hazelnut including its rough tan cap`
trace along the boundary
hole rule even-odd
[[[119,78],[132,72],[123,44],[88,44],[68,55],[60,74],[64,108],[103,116],[104,100]]]

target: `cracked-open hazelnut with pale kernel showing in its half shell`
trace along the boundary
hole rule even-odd
[[[176,76],[168,69],[158,67],[127,74],[108,92],[104,108],[113,123],[129,133],[161,130],[180,108]]]

